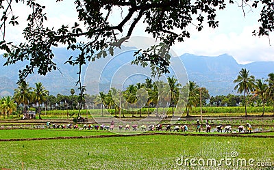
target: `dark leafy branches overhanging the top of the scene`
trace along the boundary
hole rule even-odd
[[[53,46],[66,45],[67,49],[79,51],[79,55],[68,57],[67,62],[71,65],[81,66],[86,61],[95,61],[100,57],[113,55],[114,48],[121,46],[134,31],[137,23],[146,23],[145,31],[158,38],[168,46],[176,41],[182,42],[190,37],[189,25],[195,25],[198,31],[203,27],[218,27],[216,11],[224,10],[227,5],[234,3],[234,0],[212,0],[212,1],[191,1],[191,0],[117,0],[117,1],[80,1],[75,0],[77,10],[77,22],[74,25],[63,25],[59,28],[46,27],[45,6],[35,0],[6,0],[0,1],[1,20],[0,29],[3,40],[0,42],[0,49],[6,51],[5,58],[8,60],[5,65],[10,65],[18,61],[27,60],[29,63],[19,71],[20,80],[24,80],[28,74],[37,70],[39,74],[45,75],[51,70],[57,70],[58,66],[53,61]],[[18,23],[14,5],[25,6],[31,9],[27,17],[27,27],[23,29],[25,42],[14,44],[6,42],[5,34],[7,25],[20,27]],[[56,3],[62,3],[57,0]],[[271,0],[249,1],[241,0],[240,10],[245,14],[246,10],[260,8],[260,27],[253,31],[254,35],[269,36],[269,32],[274,29],[274,2]],[[126,11],[126,16],[114,25],[111,16],[114,15],[115,8]],[[50,21],[49,21],[50,22]],[[84,27],[82,27],[84,25]],[[125,25],[129,29],[125,30]],[[84,41],[79,42],[77,38],[84,37]],[[136,60],[133,63],[147,66],[151,63],[152,72],[169,72],[169,47],[158,46],[164,53],[151,53],[157,51],[157,47],[144,49],[142,53],[136,53]],[[139,51],[140,52],[140,51]],[[80,78],[79,78],[80,81]],[[81,86],[81,85],[80,85]],[[82,88],[82,87],[80,87]]]

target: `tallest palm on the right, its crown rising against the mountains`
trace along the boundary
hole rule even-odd
[[[234,89],[238,89],[238,93],[241,94],[244,92],[244,103],[245,103],[245,116],[247,116],[247,103],[246,103],[246,94],[249,94],[249,91],[253,91],[255,78],[254,76],[249,76],[249,70],[242,68],[239,75],[234,83],[238,83]]]

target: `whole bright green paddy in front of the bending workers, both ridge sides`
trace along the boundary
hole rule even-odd
[[[274,168],[274,132],[243,134],[247,137],[215,136],[214,132],[208,136],[202,132],[182,134],[121,136],[106,130],[0,130],[0,139],[18,139],[0,141],[0,169]]]

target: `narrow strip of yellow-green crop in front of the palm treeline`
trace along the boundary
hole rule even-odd
[[[249,115],[262,115],[262,107],[247,107],[247,113]],[[149,113],[155,113],[155,108],[150,108]],[[202,107],[203,115],[205,116],[244,116],[245,115],[245,107]],[[79,111],[78,110],[51,110],[51,111],[42,111],[42,117],[51,117],[51,118],[66,118],[67,115],[77,115]],[[91,115],[93,117],[95,116],[101,116],[102,110],[101,109],[88,109],[82,110],[81,115],[87,115],[90,117]],[[148,109],[143,108],[141,111],[142,117],[146,117],[148,115]],[[172,108],[158,108],[158,113],[166,113],[167,115],[172,115]],[[186,113],[184,109],[175,109],[175,113],[182,114],[183,116],[186,116]],[[115,109],[103,109],[103,115],[115,115]],[[124,111],[121,113],[122,116],[125,117],[132,117],[132,115],[138,117],[140,116],[140,113],[138,111],[134,112],[128,112]],[[200,115],[200,108],[199,107],[193,107],[189,113],[192,116]],[[116,111],[116,115],[119,116],[118,111]],[[264,115],[274,115],[274,108],[273,107],[265,107],[265,113]]]

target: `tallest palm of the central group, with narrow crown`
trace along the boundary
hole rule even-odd
[[[177,79],[175,79],[174,76],[168,77],[167,81],[169,83],[169,88],[170,88],[170,94],[171,94],[171,107],[172,107],[172,115],[174,116],[174,106],[177,102],[177,98],[179,95],[179,87],[182,85],[177,83]]]

